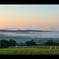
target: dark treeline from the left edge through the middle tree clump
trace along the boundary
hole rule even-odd
[[[31,46],[31,45],[36,45],[36,43],[34,42],[34,40],[31,41],[26,41],[25,43],[16,43],[15,40],[10,39],[8,40],[0,40],[0,48],[8,48],[9,46]]]

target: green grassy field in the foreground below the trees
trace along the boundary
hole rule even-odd
[[[59,55],[59,46],[17,46],[0,48],[0,55]]]

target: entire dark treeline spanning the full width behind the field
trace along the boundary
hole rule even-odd
[[[8,48],[9,46],[34,46],[34,45],[38,45],[36,44],[36,42],[34,40],[31,40],[31,41],[26,41],[25,43],[16,43],[15,40],[13,39],[10,39],[9,41],[8,40],[0,40],[0,48]],[[42,44],[39,44],[39,45],[59,45],[59,40],[48,40],[47,42],[45,43],[42,43]]]

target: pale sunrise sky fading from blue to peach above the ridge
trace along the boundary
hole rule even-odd
[[[0,5],[0,29],[59,31],[59,5]]]

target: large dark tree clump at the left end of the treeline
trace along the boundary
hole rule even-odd
[[[9,46],[15,46],[16,45],[16,41],[13,39],[8,40],[0,40],[0,48],[8,48]]]

